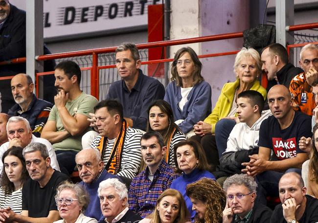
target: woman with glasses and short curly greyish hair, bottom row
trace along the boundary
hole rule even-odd
[[[57,188],[55,201],[62,220],[54,223],[97,223],[84,215],[90,196],[82,186],[65,181]]]

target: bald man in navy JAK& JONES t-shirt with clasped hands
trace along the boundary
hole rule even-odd
[[[287,87],[273,86],[267,98],[273,116],[261,124],[258,155],[251,155],[250,162],[242,164],[246,166],[243,172],[256,176],[257,197],[263,204],[266,196],[278,196],[278,181],[283,173],[301,174],[301,165],[308,155],[299,149],[298,142],[302,136],[312,136],[311,117],[294,111]]]

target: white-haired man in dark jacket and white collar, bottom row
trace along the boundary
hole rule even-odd
[[[104,218],[98,223],[138,223],[139,215],[128,208],[128,190],[118,179],[109,178],[98,187],[100,209]]]

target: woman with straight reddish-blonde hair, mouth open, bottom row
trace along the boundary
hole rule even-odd
[[[189,214],[182,194],[175,189],[167,189],[158,198],[157,205],[153,213],[141,220],[139,223],[186,222],[189,222]]]

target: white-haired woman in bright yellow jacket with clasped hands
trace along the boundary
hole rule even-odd
[[[219,164],[219,156],[222,154],[219,154],[218,149],[220,149],[220,151],[226,149],[217,149],[215,141],[216,137],[214,136],[215,126],[219,120],[227,118],[227,120],[222,121],[223,124],[221,126],[227,128],[225,129],[225,132],[228,132],[229,135],[235,125],[235,121],[233,120],[235,120],[236,116],[237,95],[243,91],[255,90],[262,94],[264,100],[267,96],[266,89],[263,88],[257,80],[262,72],[262,62],[259,53],[256,50],[252,48],[242,48],[235,57],[233,68],[237,78],[236,81],[226,83],[223,86],[221,95],[219,96],[212,113],[204,119],[204,121],[200,121],[194,125],[194,132],[196,135],[192,138],[201,143],[208,162],[212,165]]]

